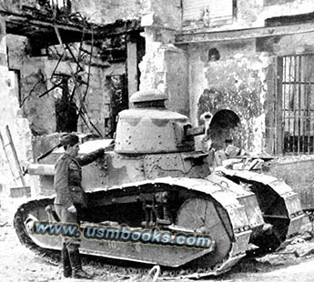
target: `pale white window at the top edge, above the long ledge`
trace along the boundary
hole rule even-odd
[[[236,15],[236,0],[183,0],[183,21],[203,21],[204,25],[233,20]]]

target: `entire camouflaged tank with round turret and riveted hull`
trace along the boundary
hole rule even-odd
[[[298,195],[272,176],[212,173],[208,154],[195,149],[204,127],[193,128],[166,100],[157,90],[135,93],[134,107],[119,113],[115,141],[80,145],[80,154],[107,146],[83,168],[88,208],[77,233],[80,252],[204,277],[228,271],[252,247],[279,247],[298,233],[308,220]],[[45,176],[52,189],[60,154],[56,149],[28,173]],[[27,247],[61,249],[61,236],[35,232],[37,222],[58,224],[53,200],[30,200],[16,211],[16,234]]]

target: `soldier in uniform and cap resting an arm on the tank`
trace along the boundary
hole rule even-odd
[[[82,187],[82,168],[95,161],[98,156],[104,155],[103,148],[86,156],[78,155],[78,136],[70,134],[61,140],[65,148],[65,154],[56,162],[56,174],[54,186],[56,189],[55,208],[60,221],[65,224],[77,224],[79,226],[82,211],[86,208],[86,195]],[[79,239],[64,237],[61,251],[64,276],[75,278],[87,278],[92,276],[82,269],[78,247]]]

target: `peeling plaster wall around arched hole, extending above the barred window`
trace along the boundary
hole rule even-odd
[[[274,154],[276,147],[277,57],[314,52],[313,33],[189,45],[190,116],[197,126],[205,112],[238,115],[242,146]],[[208,61],[217,48],[218,61]]]

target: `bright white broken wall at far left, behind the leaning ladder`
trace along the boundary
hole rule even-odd
[[[3,24],[3,23],[2,23]],[[1,31],[3,25],[1,26]],[[31,131],[26,118],[22,115],[19,106],[17,86],[15,85],[14,73],[9,71],[6,56],[6,36],[0,35],[0,56],[5,58],[0,64],[0,131],[4,138],[5,145],[9,144],[5,127],[8,126],[12,135],[16,155],[21,166],[25,166],[28,162],[33,162]],[[8,160],[5,156],[5,151]],[[10,169],[11,167],[11,169]],[[19,176],[18,169],[15,165],[15,158],[9,146],[6,150],[0,144],[0,185],[5,187],[5,193],[9,194],[9,188],[14,186],[23,186],[21,180],[15,179]],[[34,195],[36,190],[36,177],[25,176],[25,183],[31,186],[31,192]]]

